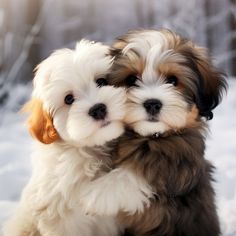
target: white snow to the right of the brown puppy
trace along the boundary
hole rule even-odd
[[[216,108],[206,157],[216,167],[215,190],[223,235],[236,236],[236,80]]]

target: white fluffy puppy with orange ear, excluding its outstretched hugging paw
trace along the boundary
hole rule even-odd
[[[117,236],[112,217],[88,216],[79,204],[90,181],[110,165],[108,141],[124,131],[125,93],[107,85],[109,47],[81,41],[37,68],[29,111],[33,174],[5,236]],[[99,188],[99,186],[98,186]]]

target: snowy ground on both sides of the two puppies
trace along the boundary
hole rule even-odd
[[[215,189],[223,236],[236,236],[236,80],[229,82],[228,96],[210,122],[206,157],[216,166]],[[30,176],[32,141],[23,125],[24,117],[16,113],[14,105],[28,91],[16,88],[8,111],[0,117],[0,226],[14,211]]]

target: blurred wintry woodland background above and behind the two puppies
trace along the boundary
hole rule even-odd
[[[0,105],[53,50],[140,27],[177,31],[236,75],[236,0],[0,0]]]

